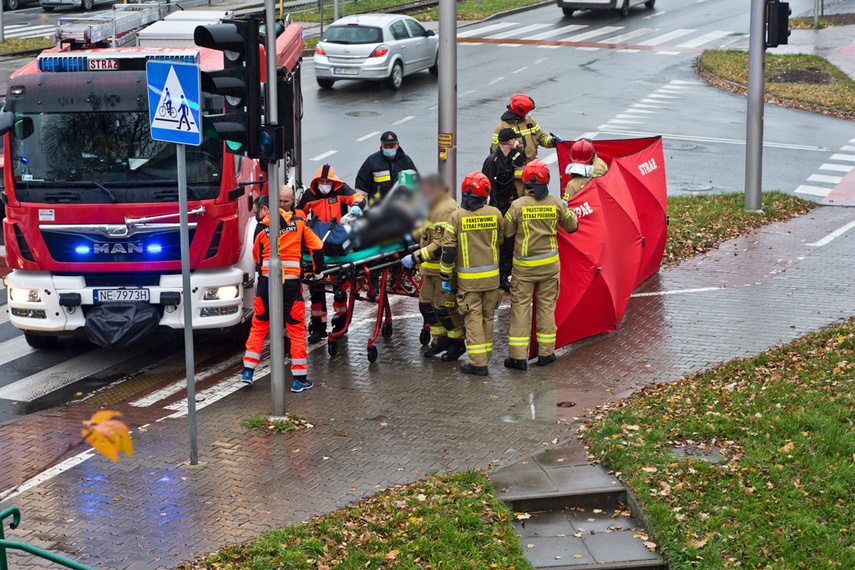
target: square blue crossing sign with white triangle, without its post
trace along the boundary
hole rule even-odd
[[[151,138],[192,146],[202,144],[199,66],[147,61],[145,73]]]

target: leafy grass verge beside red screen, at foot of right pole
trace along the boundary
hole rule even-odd
[[[669,196],[663,263],[680,263],[753,229],[801,216],[817,206],[783,192],[764,192],[763,213],[757,214],[746,212],[743,201],[743,194]]]

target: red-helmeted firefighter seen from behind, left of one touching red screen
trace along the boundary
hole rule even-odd
[[[442,289],[451,293],[457,276],[457,304],[466,326],[469,363],[464,374],[488,374],[493,353],[493,316],[502,299],[499,289],[499,246],[504,241],[502,214],[487,205],[490,181],[481,172],[463,179],[460,209],[455,210],[442,236],[439,271]]]

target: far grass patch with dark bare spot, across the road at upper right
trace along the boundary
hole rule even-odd
[[[717,87],[744,92],[748,85],[747,51],[706,50],[698,67]],[[817,55],[767,54],[766,100],[807,110],[821,107],[851,118],[855,113],[855,81]]]

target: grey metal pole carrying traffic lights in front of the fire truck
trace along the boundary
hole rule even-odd
[[[276,91],[276,0],[264,2],[265,62],[267,64],[267,123],[279,120],[279,99]],[[285,417],[285,315],[282,296],[282,258],[279,255],[279,163],[267,168],[267,196],[270,200],[270,415]]]

